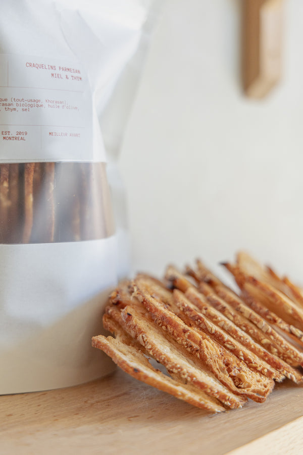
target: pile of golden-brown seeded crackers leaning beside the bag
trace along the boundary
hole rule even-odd
[[[93,337],[125,372],[210,412],[264,402],[275,381],[303,380],[303,290],[240,252],[223,264],[239,292],[197,260],[163,281],[139,274],[111,294],[115,338]],[[154,359],[162,365],[153,366]]]

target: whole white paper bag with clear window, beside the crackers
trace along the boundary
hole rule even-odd
[[[139,0],[10,0],[1,10],[4,394],[113,369],[90,338],[128,272],[115,158],[151,22]]]

